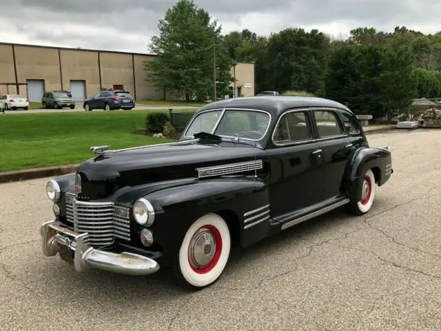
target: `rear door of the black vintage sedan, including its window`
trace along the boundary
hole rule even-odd
[[[324,162],[323,200],[326,200],[341,194],[352,145],[338,117],[338,110],[313,108],[312,112],[317,143]]]

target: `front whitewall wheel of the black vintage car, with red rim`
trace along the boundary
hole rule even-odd
[[[185,233],[174,263],[174,274],[183,288],[201,289],[218,280],[229,258],[231,237],[218,214],[197,219]]]

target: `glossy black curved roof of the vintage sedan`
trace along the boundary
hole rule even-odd
[[[220,100],[208,103],[198,110],[202,112],[210,109],[222,108],[242,108],[266,110],[271,115],[278,116],[281,112],[292,108],[303,107],[326,107],[326,108],[340,108],[353,113],[347,106],[337,101],[322,99],[318,97],[298,97],[298,96],[282,96],[282,95],[268,95],[256,97],[240,97]]]

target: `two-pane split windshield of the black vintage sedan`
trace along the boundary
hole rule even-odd
[[[222,110],[198,114],[185,132],[185,137],[192,137],[198,132],[207,132],[221,137],[235,137],[238,134],[243,139],[260,140],[269,126],[269,114],[266,112],[226,110],[220,118],[221,115]],[[214,128],[216,130],[213,132]]]

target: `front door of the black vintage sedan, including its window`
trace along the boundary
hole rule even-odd
[[[323,173],[308,109],[285,112],[272,134],[269,159],[271,215],[294,216],[322,200]]]

